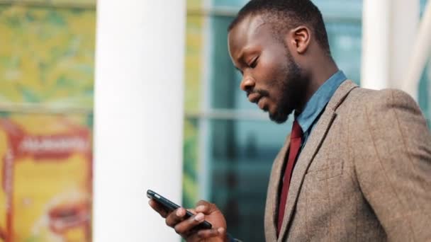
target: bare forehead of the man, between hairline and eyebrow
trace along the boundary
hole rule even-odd
[[[229,52],[234,57],[240,51],[262,40],[271,37],[269,23],[266,23],[262,16],[247,16],[230,30],[228,35]]]

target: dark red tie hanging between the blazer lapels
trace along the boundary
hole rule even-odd
[[[289,193],[289,185],[291,183],[291,175],[293,166],[295,165],[296,156],[298,156],[299,148],[301,148],[302,129],[298,122],[293,121],[291,132],[291,144],[289,148],[289,159],[287,160],[286,169],[284,170],[283,188],[281,189],[281,197],[279,204],[279,223],[277,226],[277,236],[280,234],[281,224],[284,219],[284,208],[286,207],[287,194]]]

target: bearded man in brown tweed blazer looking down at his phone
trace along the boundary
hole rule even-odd
[[[248,99],[295,118],[269,180],[267,241],[431,241],[431,135],[410,96],[347,80],[308,0],[250,1],[228,44]],[[186,241],[231,240],[215,204],[190,219],[150,205]],[[213,229],[194,231],[204,219]]]

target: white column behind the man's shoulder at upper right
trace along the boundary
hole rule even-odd
[[[401,88],[417,32],[419,0],[364,0],[362,80],[365,88]]]

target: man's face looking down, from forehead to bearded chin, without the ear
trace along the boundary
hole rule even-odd
[[[299,107],[308,79],[293,61],[284,40],[277,39],[270,23],[249,16],[228,35],[230,57],[241,71],[241,89],[252,103],[282,123]]]

